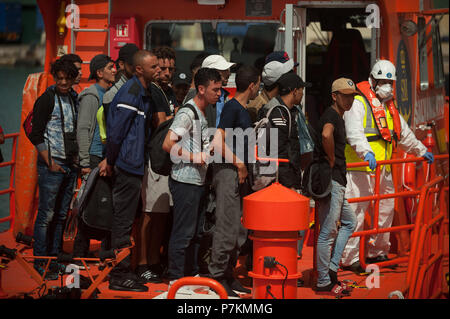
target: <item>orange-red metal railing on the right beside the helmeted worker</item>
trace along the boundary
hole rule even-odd
[[[448,160],[449,155],[436,155],[435,161]],[[404,191],[394,192],[391,194],[380,194],[380,173],[381,166],[389,164],[403,164],[410,162],[424,162],[424,158],[406,158],[406,159],[392,159],[377,161],[377,167],[375,169],[375,189],[374,194],[371,196],[355,197],[347,199],[349,203],[374,201],[373,209],[373,228],[355,232],[351,237],[361,237],[359,247],[359,262],[363,269],[366,269],[365,262],[365,238],[366,236],[387,233],[387,232],[399,232],[409,230],[412,231],[412,249],[410,255],[406,257],[398,257],[389,261],[376,263],[379,267],[387,267],[392,265],[398,265],[400,263],[408,263],[408,270],[406,276],[406,283],[404,291],[408,292],[409,298],[420,298],[421,293],[428,292],[427,296],[437,298],[445,289],[446,283],[444,282],[443,275],[443,259],[448,256],[448,252],[444,252],[444,224],[449,224],[448,219],[448,175],[432,177],[433,180],[424,184],[420,191]],[[424,164],[426,167],[427,163]],[[432,164],[435,165],[435,164]],[[368,166],[367,162],[350,163],[347,164],[347,168],[364,167]],[[424,168],[425,168],[424,167]],[[447,186],[444,185],[447,180]],[[437,201],[433,200],[434,194],[438,193],[439,207],[434,207]],[[447,197],[445,197],[447,193]],[[405,198],[419,196],[419,206],[417,211],[417,217],[415,223],[401,226],[393,226],[389,228],[379,228],[379,206],[380,201],[388,198]],[[317,215],[317,212],[316,212]],[[317,220],[317,216],[315,217]],[[319,225],[315,223],[315,242],[319,233]],[[432,251],[432,230],[433,227],[438,228],[438,251]],[[447,232],[448,234],[448,227]],[[316,245],[314,245],[314,270],[316,270]],[[431,270],[434,270],[431,274]],[[440,271],[436,271],[440,270]],[[441,281],[436,276],[442,276]],[[439,284],[442,284],[439,286]],[[430,288],[430,286],[433,286]],[[431,294],[431,292],[434,292]]]

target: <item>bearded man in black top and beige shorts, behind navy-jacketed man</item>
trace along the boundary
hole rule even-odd
[[[161,69],[150,89],[152,105],[155,108],[153,128],[156,129],[161,123],[175,116],[178,103],[171,87],[175,71],[175,51],[169,47],[158,47],[153,52]],[[136,268],[136,274],[146,282],[161,282],[164,262],[161,261],[160,251],[172,205],[169,177],[156,174],[149,159],[145,166],[142,187],[143,214],[139,223],[139,259]]]

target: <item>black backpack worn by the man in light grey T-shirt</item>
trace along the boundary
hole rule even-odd
[[[182,107],[188,107],[194,112],[195,120],[199,120],[198,113],[194,106],[185,104]],[[150,165],[153,172],[163,176],[169,176],[172,169],[172,160],[170,159],[170,153],[167,153],[162,145],[169,132],[169,128],[173,123],[174,118],[167,120],[159,125],[152,133],[149,142],[149,155]]]

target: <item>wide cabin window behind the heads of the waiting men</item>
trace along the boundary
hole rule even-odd
[[[275,47],[279,23],[268,22],[155,22],[146,26],[146,49],[166,45],[176,52],[177,68],[189,72],[199,53],[220,54],[228,61],[260,67]]]

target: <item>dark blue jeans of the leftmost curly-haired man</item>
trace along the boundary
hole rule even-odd
[[[61,252],[62,235],[77,171],[73,166],[60,166],[65,173],[51,172],[44,163],[37,163],[39,207],[33,235],[35,256],[56,256]],[[49,233],[50,229],[52,233]]]

